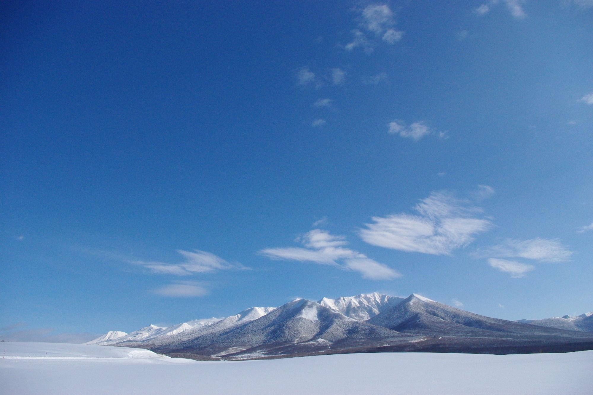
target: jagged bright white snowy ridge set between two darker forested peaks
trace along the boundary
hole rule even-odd
[[[386,308],[398,304],[404,298],[392,297],[378,294],[360,294],[353,297],[341,297],[337,299],[323,298],[318,303],[330,308],[333,311],[344,314],[346,317],[359,321],[366,321],[381,313]]]

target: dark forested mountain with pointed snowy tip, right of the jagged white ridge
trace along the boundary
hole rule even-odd
[[[499,336],[496,333],[551,335],[550,328],[515,321],[480,316],[420,295],[412,294],[398,305],[388,308],[368,323],[429,336]]]

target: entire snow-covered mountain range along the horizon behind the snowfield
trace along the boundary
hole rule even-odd
[[[149,325],[129,334],[111,331],[87,344],[147,348],[196,359],[382,351],[517,353],[593,349],[593,333],[585,332],[593,332],[587,326],[593,316],[559,319],[577,324],[568,328],[507,321],[417,294],[400,298],[375,292],[318,302],[298,299],[278,308],[251,307],[225,318],[193,320],[170,327]]]

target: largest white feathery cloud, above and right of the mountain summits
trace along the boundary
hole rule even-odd
[[[482,209],[452,193],[432,192],[415,206],[419,215],[375,216],[359,235],[366,243],[388,249],[448,255],[474,240],[474,235],[492,227],[487,219],[477,218]]]

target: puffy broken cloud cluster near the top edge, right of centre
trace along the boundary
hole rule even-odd
[[[381,40],[387,44],[395,44],[403,37],[404,32],[396,30],[395,13],[387,4],[371,4],[358,10],[359,28],[351,31],[353,39],[345,45],[346,50],[362,48],[366,53],[374,50],[375,42]],[[367,37],[369,34],[372,39]]]

